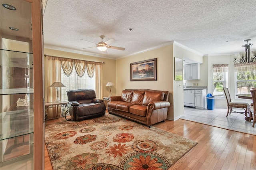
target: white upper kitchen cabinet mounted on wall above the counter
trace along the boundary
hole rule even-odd
[[[184,65],[184,79],[185,80],[199,80],[200,79],[200,63]]]

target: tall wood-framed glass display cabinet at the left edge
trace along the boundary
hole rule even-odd
[[[40,170],[44,167],[42,4],[41,0],[0,3],[0,169]]]

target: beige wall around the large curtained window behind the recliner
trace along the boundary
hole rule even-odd
[[[96,62],[104,62],[103,64],[103,95],[108,96],[110,94],[109,87],[106,87],[105,85],[111,81],[116,85],[116,60],[114,59],[106,59],[101,57],[94,57],[89,55],[82,55],[78,53],[71,53],[71,52],[65,52],[65,51],[58,51],[54,49],[47,49],[44,48],[44,54],[46,55],[52,55],[57,57],[66,57],[66,58],[74,58],[74,59],[82,59],[82,60],[88,60],[88,61],[96,61]],[[46,59],[46,58],[44,58]],[[47,79],[46,75],[48,75],[48,65],[46,65],[47,62],[44,62],[44,78]],[[46,82],[46,81],[44,81]],[[113,95],[116,95],[116,86],[112,87],[112,93]],[[45,95],[46,95],[46,85],[45,85]]]

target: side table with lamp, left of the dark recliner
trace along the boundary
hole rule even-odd
[[[66,114],[69,112],[68,101],[48,102],[48,103],[44,103],[44,115],[45,115],[44,122],[45,123],[48,120],[47,109],[56,108],[56,107],[63,107],[62,111],[61,111],[61,116],[65,117],[65,119],[66,119]],[[67,109],[67,110],[65,111],[65,109]],[[65,113],[64,113],[64,111],[65,111]]]

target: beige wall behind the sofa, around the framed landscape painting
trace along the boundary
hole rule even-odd
[[[173,118],[173,48],[172,45],[152,49],[144,53],[118,59],[116,61],[117,95],[124,89],[154,89],[169,91],[168,119]],[[156,58],[157,81],[130,81],[130,63]],[[182,101],[183,102],[183,101]]]

